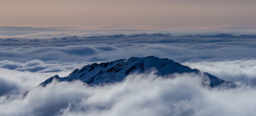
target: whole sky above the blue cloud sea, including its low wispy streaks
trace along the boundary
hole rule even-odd
[[[253,34],[255,5],[255,0],[1,0],[0,35]]]

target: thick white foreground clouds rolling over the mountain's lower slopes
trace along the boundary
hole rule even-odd
[[[82,82],[53,82],[32,89],[25,99],[0,97],[0,114],[76,116],[252,116],[255,89],[207,89],[200,76],[129,75],[124,82],[88,87]]]

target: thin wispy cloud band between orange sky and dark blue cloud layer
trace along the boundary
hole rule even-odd
[[[214,35],[219,33],[242,35],[255,34],[255,26],[142,26],[142,25],[108,25],[108,26],[0,26],[0,38],[53,38],[65,36],[100,36],[113,34],[164,33],[174,36]]]

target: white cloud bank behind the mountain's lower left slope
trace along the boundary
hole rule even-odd
[[[72,70],[63,72],[29,72],[0,68],[0,96],[9,94],[21,94],[53,75],[67,76]]]

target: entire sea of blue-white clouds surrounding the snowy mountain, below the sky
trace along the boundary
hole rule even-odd
[[[147,40],[143,48],[138,43],[142,36]],[[162,78],[154,73],[132,74],[121,83],[101,87],[79,81],[36,87],[49,77],[65,77],[88,64],[129,58],[127,51],[134,47],[138,57],[169,58],[239,87],[208,89],[201,86],[199,75]],[[255,70],[254,35],[0,38],[0,115],[252,116]]]

